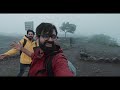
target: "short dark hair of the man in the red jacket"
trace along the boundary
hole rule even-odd
[[[58,32],[57,32],[55,25],[53,25],[51,23],[41,23],[36,28],[36,36],[40,37],[40,35],[46,34],[47,32],[48,32],[48,34],[52,34],[54,30],[57,35]]]

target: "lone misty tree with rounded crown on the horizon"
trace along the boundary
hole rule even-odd
[[[64,31],[65,33],[65,38],[66,38],[66,34],[69,33],[74,33],[74,31],[76,30],[76,25],[75,24],[69,24],[69,22],[63,22],[62,26],[59,27],[62,31]]]

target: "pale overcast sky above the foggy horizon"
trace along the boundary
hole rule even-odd
[[[120,14],[0,14],[0,32],[26,34],[24,22],[34,21],[34,29],[41,22],[56,25],[58,31],[63,22],[77,26],[75,35],[106,34],[120,38]],[[63,33],[63,32],[59,32]],[[64,34],[64,33],[63,33]]]

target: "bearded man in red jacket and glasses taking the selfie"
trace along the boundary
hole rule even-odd
[[[48,76],[45,66],[47,60],[52,60],[52,69],[50,72],[53,72],[54,76],[74,76],[68,67],[68,61],[62,49],[56,44],[57,33],[56,27],[51,23],[41,23],[36,28],[39,47],[34,48],[34,53],[23,48],[21,44],[12,45],[32,58],[29,76]]]

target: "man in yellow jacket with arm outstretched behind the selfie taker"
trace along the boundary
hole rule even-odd
[[[33,52],[33,47],[36,47],[36,42],[34,40],[35,32],[33,30],[28,30],[27,35],[25,35],[21,40],[20,43],[22,46],[24,46],[25,49],[29,50],[30,52]],[[24,45],[23,45],[24,44]],[[12,48],[11,50],[7,51],[4,54],[0,55],[0,59],[4,59],[8,56],[14,55],[17,53],[17,49]],[[25,73],[25,70],[29,68],[31,64],[31,57],[26,55],[25,53],[20,54],[20,71],[17,76],[23,76]]]

